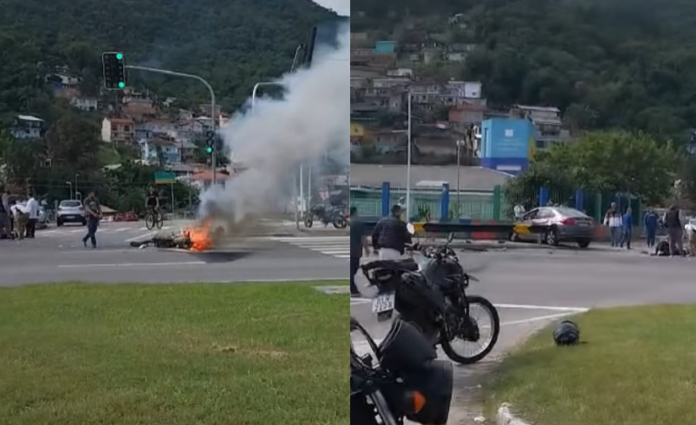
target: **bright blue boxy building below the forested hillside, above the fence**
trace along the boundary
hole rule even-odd
[[[481,165],[519,174],[534,152],[534,124],[527,119],[492,118],[481,124]]]

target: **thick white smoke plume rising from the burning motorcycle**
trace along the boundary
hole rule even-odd
[[[254,109],[233,117],[221,130],[235,162],[246,171],[202,195],[203,217],[239,222],[247,214],[263,214],[289,200],[301,162],[315,161],[337,143],[345,144],[350,126],[349,28],[339,48],[317,50],[310,68],[277,80],[282,100],[259,98]],[[251,87],[249,88],[251,91]],[[348,150],[345,164],[348,164]]]

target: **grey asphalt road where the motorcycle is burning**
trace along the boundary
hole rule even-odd
[[[169,229],[166,229],[169,227]],[[176,223],[164,231],[180,229]],[[0,241],[0,286],[85,281],[96,283],[245,282],[347,279],[347,236],[262,237],[232,240],[219,250],[191,253],[129,247],[150,238],[141,223],[104,223],[97,249],[85,248],[86,228],[37,231],[35,239]]]

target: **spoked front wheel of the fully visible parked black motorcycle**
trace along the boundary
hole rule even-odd
[[[496,310],[495,306],[487,299],[478,295],[467,296],[467,300],[469,302],[469,320],[478,334],[476,335],[477,338],[472,338],[470,332],[468,335],[462,335],[461,329],[458,329],[457,331],[452,331],[455,333],[454,338],[448,338],[442,335],[442,340],[440,341],[442,351],[445,352],[447,357],[460,364],[476,363],[486,357],[490,354],[491,350],[493,350],[493,347],[495,347],[496,342],[498,342],[498,336],[500,335],[500,317],[498,316],[498,310]],[[490,324],[482,325],[480,320],[471,317],[471,312],[474,310],[484,311],[490,320]],[[461,327],[458,326],[457,328]],[[485,338],[483,344],[481,344],[481,339],[484,339],[481,335],[483,333],[482,331],[490,333],[490,336]],[[465,347],[477,346],[477,348],[471,353],[462,354],[452,346],[455,339],[462,340]]]

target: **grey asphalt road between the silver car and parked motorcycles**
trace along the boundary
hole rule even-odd
[[[451,424],[479,423],[475,418],[482,412],[477,401],[486,372],[503,353],[549,323],[593,307],[696,302],[696,260],[689,258],[650,257],[640,249],[510,249],[460,256],[481,280],[472,283],[470,293],[497,305],[502,328],[489,358],[472,366],[455,366],[456,408]],[[364,278],[358,282],[366,296],[351,301],[351,315],[379,340],[390,324],[376,322],[368,300],[372,290],[363,286]]]

